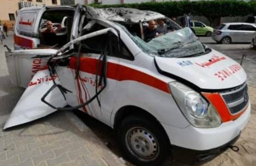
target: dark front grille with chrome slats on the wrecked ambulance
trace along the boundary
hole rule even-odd
[[[249,101],[248,86],[245,83],[239,89],[222,93],[222,97],[228,105],[231,114],[239,113],[246,107]]]

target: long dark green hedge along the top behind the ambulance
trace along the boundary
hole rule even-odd
[[[171,2],[146,2],[140,4],[115,4],[99,5],[92,4],[96,8],[124,7],[137,8],[140,10],[152,10],[168,17],[192,14],[205,16],[210,24],[215,19],[227,16],[256,15],[256,0],[245,2],[243,0],[200,0],[200,1],[171,1]]]

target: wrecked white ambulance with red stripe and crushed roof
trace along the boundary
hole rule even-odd
[[[42,12],[33,18],[37,30],[28,36],[16,26],[16,36],[40,44],[35,22],[54,9],[24,10]],[[80,109],[114,128],[125,157],[143,166],[161,165],[169,152],[194,163],[232,147],[251,109],[236,61],[156,12],[56,7],[64,10],[73,11],[72,26],[61,31],[70,42],[6,52],[12,82],[27,88],[5,129]],[[158,19],[168,33],[145,42],[144,26]]]

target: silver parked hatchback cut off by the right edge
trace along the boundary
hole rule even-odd
[[[212,39],[222,44],[250,43],[256,32],[256,25],[251,23],[223,23],[216,27]]]

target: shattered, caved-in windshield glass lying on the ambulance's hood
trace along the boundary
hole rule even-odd
[[[202,43],[190,30],[190,28],[183,28],[169,32],[165,35],[159,36],[150,40],[148,43],[138,36],[133,36],[126,27],[121,26],[124,31],[132,38],[132,40],[145,53],[153,56],[161,57],[184,57],[189,55],[196,55],[204,53],[205,49]]]

